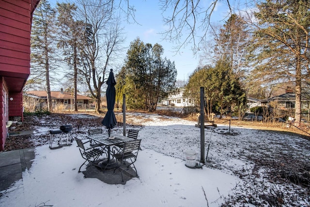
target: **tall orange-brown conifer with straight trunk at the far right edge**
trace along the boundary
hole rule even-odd
[[[301,120],[302,82],[310,74],[309,0],[266,0],[255,13],[257,65],[252,72],[264,84],[295,83],[295,124]]]

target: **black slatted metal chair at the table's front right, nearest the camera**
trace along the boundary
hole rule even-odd
[[[116,148],[116,146],[114,146],[112,149],[112,152],[116,152],[112,156],[119,161],[118,166],[117,168],[114,169],[113,173],[115,173],[115,170],[118,169],[122,175],[122,182],[124,182],[124,176],[121,169],[123,163],[127,166],[127,169],[129,168],[130,165],[132,165],[136,171],[136,176],[139,177],[137,168],[134,163],[137,160],[138,152],[140,149],[140,143],[141,140],[136,139],[124,143],[122,148]]]

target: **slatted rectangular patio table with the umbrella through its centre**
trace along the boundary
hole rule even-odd
[[[113,169],[117,167],[118,163],[116,159],[110,159],[111,155],[111,146],[123,144],[128,141],[133,141],[135,139],[125,137],[123,135],[112,134],[109,137],[109,134],[89,134],[86,136],[87,138],[93,140],[95,143],[100,143],[102,146],[106,146],[108,148],[108,158],[99,162],[99,166],[105,170]],[[109,139],[110,138],[110,139]],[[113,139],[111,139],[113,138]]]

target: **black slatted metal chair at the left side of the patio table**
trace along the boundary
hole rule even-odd
[[[93,165],[98,166],[98,159],[99,157],[104,153],[101,149],[95,148],[95,147],[90,147],[90,148],[85,148],[85,143],[89,143],[90,141],[87,141],[85,143],[82,142],[82,140],[76,138],[76,141],[78,143],[78,149],[79,152],[81,153],[81,156],[83,159],[85,159],[85,162],[79,167],[78,172],[81,172],[81,167],[88,161],[89,163],[92,163]],[[85,164],[86,165],[86,164]]]

